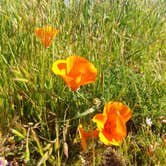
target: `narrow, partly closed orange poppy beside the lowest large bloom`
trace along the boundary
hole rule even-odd
[[[82,127],[82,124],[79,124],[78,131],[79,131],[79,135],[80,135],[81,145],[82,145],[83,151],[86,150],[86,148],[87,148],[86,139],[87,138],[96,138],[99,135],[99,131],[98,130],[92,130],[90,132],[84,131],[84,129]]]

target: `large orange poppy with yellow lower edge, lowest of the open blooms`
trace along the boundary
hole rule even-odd
[[[131,118],[131,110],[120,102],[105,104],[103,114],[96,114],[93,122],[97,123],[100,141],[105,145],[120,145],[126,137],[126,122]]]

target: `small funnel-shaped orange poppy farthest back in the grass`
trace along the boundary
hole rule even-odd
[[[51,26],[35,29],[36,36],[42,41],[45,48],[52,44],[52,39],[58,34],[58,30],[53,29]]]

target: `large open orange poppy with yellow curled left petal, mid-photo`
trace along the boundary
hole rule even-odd
[[[66,60],[55,61],[52,71],[61,76],[72,90],[77,90],[81,85],[95,82],[97,75],[94,65],[80,56],[70,56]]]

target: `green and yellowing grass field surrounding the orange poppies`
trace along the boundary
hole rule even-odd
[[[66,7],[60,0],[1,0],[0,156],[26,165],[100,165],[108,148],[91,141],[80,153],[77,126],[93,128],[93,115],[117,100],[133,117],[115,155],[128,165],[165,165],[165,5],[164,0],[83,0]],[[34,34],[45,25],[59,30],[47,49]],[[55,60],[70,55],[87,58],[98,70],[96,82],[78,92],[51,71]],[[153,122],[150,128],[146,117]]]

